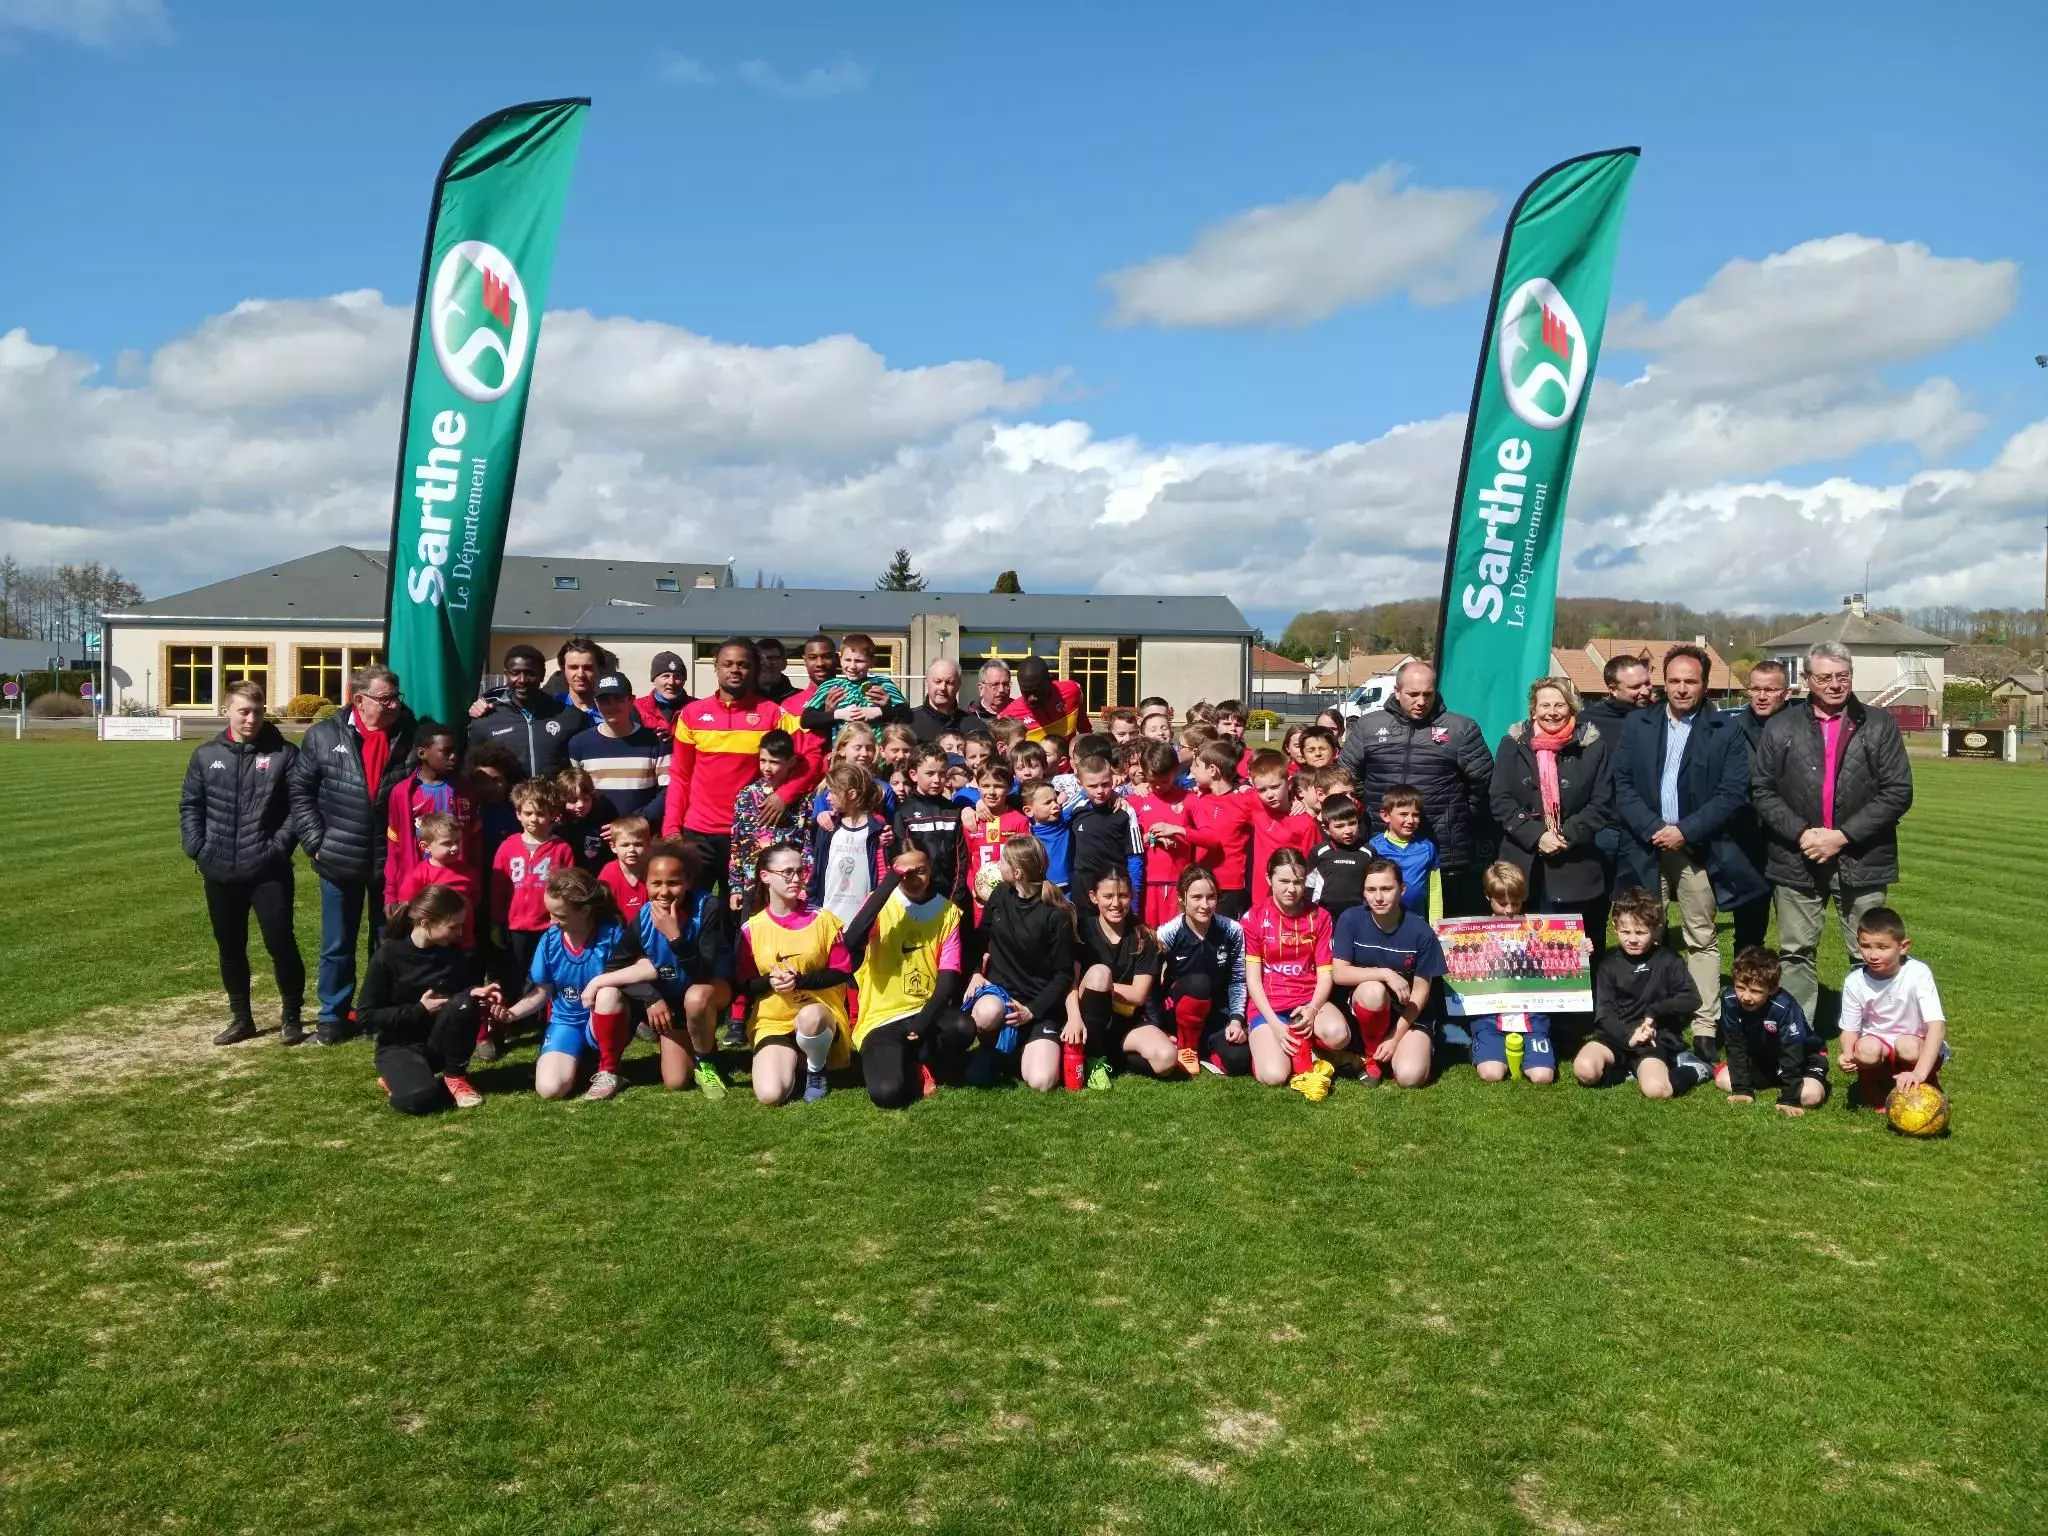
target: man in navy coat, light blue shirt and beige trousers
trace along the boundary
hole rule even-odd
[[[1620,874],[1677,901],[1686,969],[1700,989],[1692,1047],[1716,1059],[1720,940],[1714,913],[1763,895],[1741,846],[1749,805],[1749,739],[1741,719],[1706,709],[1706,651],[1673,645],[1665,702],[1622,725],[1614,750],[1614,809],[1622,819]]]

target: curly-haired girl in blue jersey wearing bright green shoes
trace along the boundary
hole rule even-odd
[[[713,1026],[733,1004],[731,956],[719,944],[719,893],[694,889],[696,854],[680,842],[653,846],[645,879],[647,905],[635,936],[655,969],[645,1016],[659,1036],[662,1085],[680,1090],[694,1079],[707,1098],[725,1098],[725,1079],[705,1059]]]

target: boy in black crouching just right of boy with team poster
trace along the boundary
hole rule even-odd
[[[1708,1065],[1686,1051],[1700,991],[1686,963],[1657,942],[1663,920],[1663,901],[1642,887],[1614,899],[1618,948],[1593,967],[1593,1038],[1571,1063],[1585,1087],[1634,1075],[1642,1098],[1671,1098],[1708,1077]]]

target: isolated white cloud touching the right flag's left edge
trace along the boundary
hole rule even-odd
[[[1270,326],[1323,319],[1407,291],[1448,303],[1493,281],[1497,240],[1481,227],[1493,193],[1403,186],[1380,166],[1323,197],[1233,213],[1192,250],[1110,272],[1112,324]]]

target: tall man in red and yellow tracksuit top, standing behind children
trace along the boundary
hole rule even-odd
[[[756,690],[760,655],[754,641],[731,639],[713,664],[719,690],[676,711],[676,745],[668,768],[668,809],[662,836],[684,834],[702,858],[700,883],[725,874],[731,858],[733,801],[760,774],[760,748],[768,731],[799,737],[797,758],[780,782],[784,803],[809,795],[823,776],[823,762],[801,739],[803,723]]]

